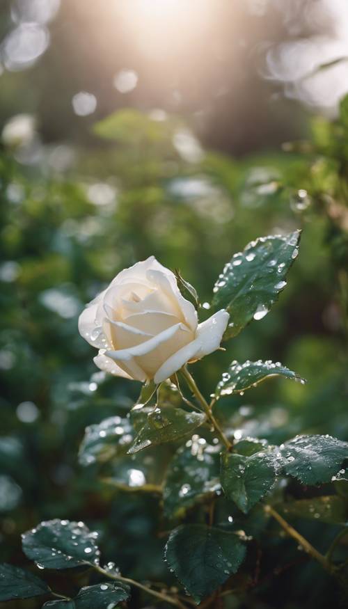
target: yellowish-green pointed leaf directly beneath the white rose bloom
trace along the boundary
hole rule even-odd
[[[136,436],[128,454],[151,445],[173,442],[187,436],[205,421],[205,414],[186,412],[174,406],[156,408],[148,414],[144,427]]]

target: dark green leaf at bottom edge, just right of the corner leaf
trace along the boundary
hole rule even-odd
[[[76,609],[112,609],[129,598],[129,587],[122,583],[102,582],[81,588],[74,598]]]

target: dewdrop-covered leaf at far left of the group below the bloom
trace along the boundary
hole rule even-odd
[[[133,439],[134,429],[127,418],[114,416],[90,425],[79,448],[79,463],[88,466],[109,461],[125,452]]]

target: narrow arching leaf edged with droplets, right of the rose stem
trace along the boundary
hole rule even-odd
[[[223,395],[231,393],[241,393],[246,389],[255,387],[267,377],[286,377],[304,383],[295,372],[280,364],[270,360],[251,362],[247,360],[243,364],[233,361],[226,372],[223,372],[222,379],[216,386],[215,397],[218,399]]]

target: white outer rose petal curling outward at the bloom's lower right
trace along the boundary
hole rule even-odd
[[[230,315],[221,309],[205,322],[199,324],[196,338],[169,357],[157,370],[154,381],[161,383],[191,359],[200,359],[218,349]]]

